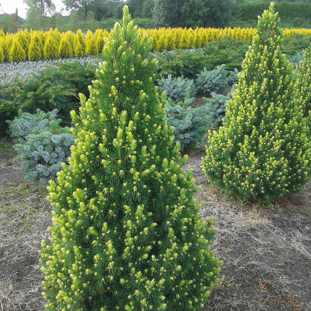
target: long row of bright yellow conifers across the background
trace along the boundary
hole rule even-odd
[[[246,40],[251,41],[253,36],[256,34],[256,28],[159,28],[159,29],[140,29],[142,34],[147,34],[153,37],[153,51],[164,51],[164,50],[173,50],[173,49],[192,49],[192,48],[201,48],[212,41],[219,41],[221,38],[229,36],[233,39],[239,40]],[[303,36],[311,36],[311,29],[285,29],[283,34],[286,38],[292,38],[295,35],[303,35]],[[61,50],[61,57],[64,57],[66,53],[63,51],[67,51],[63,47],[64,42],[61,43],[61,38],[66,35],[67,40],[71,46],[71,49],[75,52],[77,57],[82,57],[85,54],[88,55],[96,55],[96,49],[98,52],[101,53],[102,48],[104,46],[104,37],[109,39],[110,34],[107,30],[98,29],[95,31],[95,34],[88,30],[86,33],[86,38],[81,30],[78,30],[77,33],[73,33],[72,31],[68,30],[66,33],[59,33],[57,28],[50,29],[49,31],[34,31],[31,30],[30,32],[25,30],[20,30],[16,34],[6,34],[4,36],[4,32],[0,32],[0,37],[4,38],[4,40],[0,40],[0,49],[4,54],[3,57],[5,60],[8,58],[8,51],[12,47],[13,39],[20,44],[21,48],[24,50],[26,56],[28,57],[29,54],[31,55],[30,59],[35,60],[39,59],[39,55],[35,56],[34,53],[34,40],[33,37],[35,36],[36,46],[39,45],[41,53],[43,53],[43,47],[46,45],[47,41],[51,44],[51,40],[48,38],[53,38],[53,41],[56,47],[53,47],[58,54],[58,51]],[[41,42],[40,42],[41,41]],[[32,43],[31,43],[32,42]],[[77,46],[77,42],[79,42]],[[31,43],[31,46],[29,46]],[[2,46],[4,45],[5,46]],[[61,45],[61,47],[60,47]],[[68,45],[68,44],[67,44]],[[86,47],[88,45],[88,47]],[[87,52],[86,52],[87,48]],[[30,49],[30,53],[28,53]],[[37,47],[36,47],[37,49]],[[45,53],[50,54],[49,57],[56,58],[55,53],[47,53],[49,52],[45,48]],[[69,48],[69,50],[71,50]],[[53,55],[54,56],[53,56]],[[7,57],[6,57],[7,55]],[[71,52],[68,53],[71,55]],[[53,57],[52,57],[53,56]],[[2,60],[2,56],[0,58],[0,62]]]

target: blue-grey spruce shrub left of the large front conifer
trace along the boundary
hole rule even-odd
[[[16,160],[21,161],[27,181],[47,184],[56,180],[61,164],[67,161],[73,137],[70,128],[59,126],[62,120],[57,113],[57,109],[48,113],[37,109],[37,114],[19,110],[13,121],[7,121],[19,154]]]

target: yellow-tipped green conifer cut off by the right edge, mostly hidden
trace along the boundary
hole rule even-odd
[[[297,99],[301,104],[304,117],[308,120],[310,128],[309,112],[311,110],[311,46],[304,51],[304,59],[299,63],[297,69]]]

